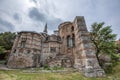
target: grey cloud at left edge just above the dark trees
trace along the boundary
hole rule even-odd
[[[0,32],[13,31],[13,30],[14,30],[14,25],[12,23],[0,18]]]

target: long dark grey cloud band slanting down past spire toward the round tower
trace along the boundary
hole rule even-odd
[[[47,23],[49,30],[57,29],[58,25],[62,22],[60,18],[43,14],[37,8],[30,9],[29,17],[35,21],[38,21],[38,23],[40,23],[39,21],[42,23]]]

